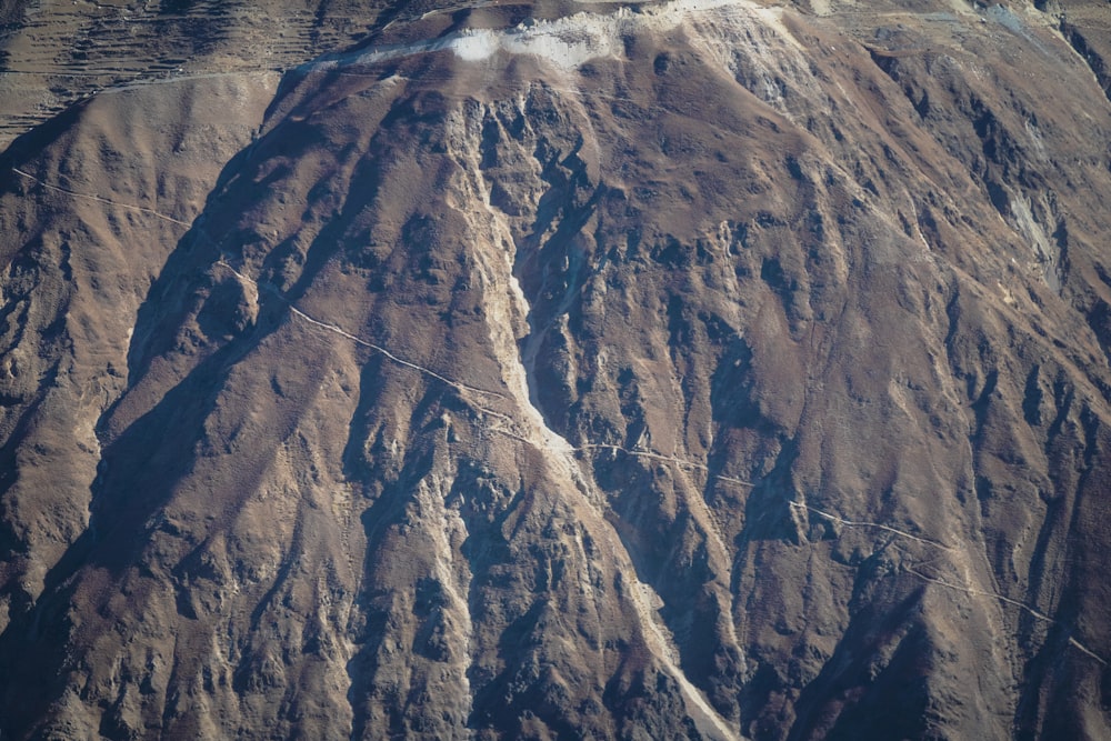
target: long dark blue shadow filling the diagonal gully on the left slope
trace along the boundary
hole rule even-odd
[[[63,136],[64,129],[77,117],[78,108],[59,117],[51,126],[40,127],[21,138],[18,142],[20,147],[10,149],[3,161],[12,161],[12,151],[22,151],[32,144],[41,147],[43,142]],[[199,318],[202,320],[200,323],[204,323],[206,317],[200,314],[203,314],[209,299],[220,302],[219,291],[214,296],[211,293],[214,288],[213,278],[206,274],[213,270],[214,263],[221,258],[220,246],[209,237],[206,227],[234,223],[238,216],[237,203],[229,198],[229,192],[242,170],[250,166],[250,153],[251,148],[242,150],[226,166],[219,178],[222,188],[210,194],[204,212],[179,241],[161,274],[151,286],[148,298],[139,310],[134,341],[128,358],[132,384],[147,373],[152,358],[177,352],[173,338],[190,317]],[[18,176],[9,171],[3,177]],[[334,238],[334,231],[342,228],[342,214],[339,219],[341,224],[323,233],[324,240]],[[227,236],[227,240],[234,240],[237,237],[230,230],[223,230],[222,233]],[[326,261],[327,254],[319,258],[314,256],[309,264],[310,269],[300,277],[297,286],[299,293],[303,292]],[[39,603],[29,612],[13,613],[12,622],[0,634],[0,660],[4,661],[4,665],[24,667],[24,671],[19,674],[19,685],[0,680],[7,684],[0,684],[6,693],[0,697],[18,695],[26,700],[19,688],[26,687],[28,681],[32,684],[41,681],[43,688],[36,693],[34,702],[17,703],[29,710],[19,714],[22,721],[11,719],[6,724],[6,731],[17,731],[23,723],[30,722],[30,719],[42,718],[43,711],[58,697],[57,692],[60,690],[54,678],[57,672],[63,670],[62,663],[60,660],[44,658],[53,655],[50,647],[62,647],[66,640],[57,640],[57,637],[52,637],[50,641],[38,639],[33,628],[43,623],[52,614],[51,611],[67,611],[69,595],[76,588],[74,584],[80,583],[72,579],[87,569],[106,569],[117,580],[132,567],[140,568],[143,573],[150,573],[152,568],[157,568],[157,564],[146,563],[143,553],[151,534],[160,527],[157,512],[171,499],[181,478],[191,470],[192,455],[182,455],[182,451],[196,453],[213,444],[214,441],[206,439],[204,422],[214,408],[229,372],[283,321],[291,320],[288,301],[269,296],[264,289],[260,291],[259,307],[258,321],[250,331],[231,338],[199,339],[198,347],[194,348],[196,354],[201,358],[199,362],[187,368],[184,375],[152,409],[107,442],[102,451],[101,473],[93,484],[88,529],[48,573]],[[214,317],[208,319],[214,321]],[[210,323],[208,329],[216,331],[220,328]],[[179,361],[183,366],[193,362],[188,358],[179,358]],[[104,421],[112,418],[118,404],[119,402],[106,411],[98,429],[103,429]],[[252,475],[252,472],[243,473]],[[63,625],[64,622],[51,620],[46,624]],[[14,677],[8,681],[14,681]],[[9,703],[8,707],[12,705]]]

